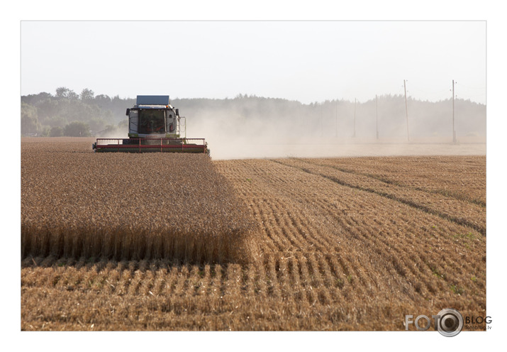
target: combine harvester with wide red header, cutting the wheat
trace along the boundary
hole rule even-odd
[[[206,153],[204,138],[186,138],[186,119],[170,104],[168,95],[138,95],[127,109],[128,138],[97,138],[91,144],[96,152]],[[184,120],[183,126],[180,121]],[[183,128],[182,128],[183,127]],[[182,130],[184,137],[182,138]]]

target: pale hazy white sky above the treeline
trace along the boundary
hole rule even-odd
[[[22,21],[21,94],[486,102],[485,21]]]

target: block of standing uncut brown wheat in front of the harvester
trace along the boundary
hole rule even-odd
[[[21,252],[55,258],[245,260],[254,224],[207,155],[23,143]]]

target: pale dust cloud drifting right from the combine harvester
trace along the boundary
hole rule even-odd
[[[407,137],[404,100],[388,98],[381,101],[382,110],[380,101],[375,109],[375,100],[354,106],[353,101],[303,105],[243,98],[209,109],[182,101],[180,111],[186,111],[186,137],[205,138],[213,160],[486,154],[484,105],[470,103],[475,110],[464,114],[468,103],[462,102],[457,143],[452,143],[450,101],[411,101]]]

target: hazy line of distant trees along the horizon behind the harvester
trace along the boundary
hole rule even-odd
[[[60,87],[21,97],[22,136],[127,135],[126,109],[133,99],[80,94]],[[238,94],[233,99],[172,99],[172,106],[189,119],[189,126],[223,128],[239,136],[306,136],[380,138],[406,136],[406,108],[402,95],[381,95],[368,101],[326,100],[311,104],[286,99]],[[420,101],[408,98],[411,137],[452,136],[452,99]],[[204,126],[204,127],[203,127]],[[207,126],[207,127],[206,127]],[[455,99],[457,136],[486,136],[486,105]],[[204,130],[206,131],[206,129]]]

